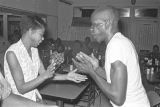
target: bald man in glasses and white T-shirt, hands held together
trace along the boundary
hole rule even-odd
[[[119,14],[111,6],[96,9],[91,16],[91,33],[106,42],[105,70],[92,55],[77,54],[77,68],[89,74],[113,107],[150,107],[141,82],[138,55],[132,42],[118,31]],[[105,106],[108,107],[108,106]]]

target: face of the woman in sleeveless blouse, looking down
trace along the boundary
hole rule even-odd
[[[43,34],[44,34],[45,29],[44,28],[39,28],[35,30],[31,30],[31,42],[33,47],[37,47],[43,40]]]

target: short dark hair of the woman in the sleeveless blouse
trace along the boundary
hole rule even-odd
[[[20,27],[21,27],[21,33],[25,33],[28,31],[30,28],[32,30],[36,30],[39,28],[45,28],[46,23],[44,20],[38,16],[22,16],[21,22],[20,22]]]

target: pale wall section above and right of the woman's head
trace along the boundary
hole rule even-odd
[[[49,37],[57,37],[58,0],[0,0],[0,7],[47,15]]]

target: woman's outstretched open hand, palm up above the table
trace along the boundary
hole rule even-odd
[[[70,71],[67,74],[66,79],[73,81],[73,82],[76,82],[76,83],[80,83],[80,82],[85,81],[87,79],[87,77],[85,75],[78,74],[78,73],[76,73],[76,71],[77,71],[77,69]]]

